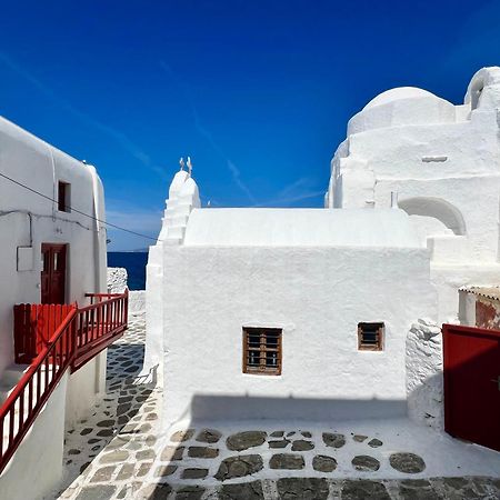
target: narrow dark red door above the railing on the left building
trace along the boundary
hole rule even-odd
[[[42,243],[41,303],[64,303],[66,244]]]

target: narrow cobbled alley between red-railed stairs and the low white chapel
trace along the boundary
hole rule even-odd
[[[64,478],[53,498],[137,498],[132,489],[142,486],[154,459],[161,398],[157,373],[140,376],[144,339],[144,314],[131,316],[124,336],[108,349],[107,396],[67,434]]]

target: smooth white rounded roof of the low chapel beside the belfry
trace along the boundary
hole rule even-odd
[[[189,247],[421,248],[399,209],[194,209]]]

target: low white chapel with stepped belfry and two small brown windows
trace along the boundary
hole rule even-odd
[[[178,172],[148,264],[169,421],[406,414],[406,334],[436,317],[408,214],[200,209]]]

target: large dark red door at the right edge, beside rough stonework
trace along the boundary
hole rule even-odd
[[[443,326],[444,429],[500,451],[500,331]]]

